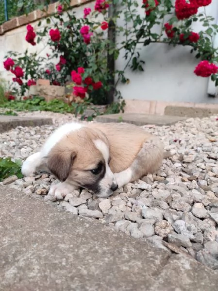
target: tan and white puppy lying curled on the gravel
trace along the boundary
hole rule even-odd
[[[44,169],[61,182],[49,195],[63,199],[82,187],[98,197],[108,197],[117,188],[159,169],[164,152],[158,137],[127,123],[67,123],[29,156],[22,173],[32,176]]]

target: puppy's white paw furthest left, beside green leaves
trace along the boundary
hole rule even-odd
[[[24,176],[34,176],[36,170],[42,165],[41,153],[31,154],[22,164],[21,172]]]

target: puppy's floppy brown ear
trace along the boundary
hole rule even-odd
[[[61,182],[64,182],[75,157],[76,153],[69,149],[51,151],[48,155],[47,167]]]

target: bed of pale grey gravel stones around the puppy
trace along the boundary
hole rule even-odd
[[[32,112],[18,114],[33,116]],[[34,116],[52,117],[55,125],[17,127],[0,134],[0,156],[25,159],[40,148],[57,125],[75,120],[70,114],[51,112],[35,112]],[[108,199],[81,189],[68,194],[64,201],[48,203],[218,269],[217,117],[144,128],[159,136],[167,150],[177,152],[163,161],[157,174],[117,189]],[[42,173],[24,179],[12,176],[2,184],[48,200],[46,194],[53,183],[58,183],[53,175]]]

